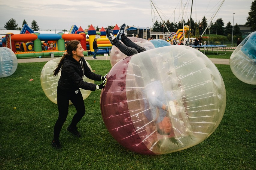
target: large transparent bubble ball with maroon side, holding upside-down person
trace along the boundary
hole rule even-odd
[[[117,142],[140,154],[166,154],[197,145],[214,132],[225,111],[226,90],[218,69],[188,46],[165,46],[126,57],[107,78],[100,97],[102,119]],[[161,102],[168,111],[160,108]],[[168,134],[160,133],[160,118],[170,121]]]

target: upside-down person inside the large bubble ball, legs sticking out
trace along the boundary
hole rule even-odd
[[[112,45],[115,45],[121,52],[127,56],[132,56],[140,52],[146,51],[144,47],[137,45],[126,37],[125,24],[122,24],[117,36],[115,37],[112,30],[107,28],[106,35]],[[121,40],[123,44],[119,41]],[[142,56],[142,60],[146,60],[147,57]],[[147,60],[148,61],[148,60]],[[154,68],[151,62],[143,62],[145,68]],[[154,121],[157,125],[157,131],[159,134],[168,135],[172,130],[172,125],[170,123],[169,117],[167,117],[168,106],[166,105],[166,98],[164,94],[163,87],[160,81],[157,80],[157,72],[148,72],[149,77],[153,77],[150,83],[145,85],[142,90],[143,95],[147,96],[148,100],[144,100],[145,103],[145,116],[149,121]],[[157,88],[155,88],[157,87]],[[162,88],[160,88],[162,87]],[[152,89],[156,90],[154,95],[152,95]],[[145,97],[146,98],[146,97]],[[169,97],[169,100],[174,100],[174,98]],[[148,109],[150,108],[150,109]],[[158,113],[159,112],[159,113]]]

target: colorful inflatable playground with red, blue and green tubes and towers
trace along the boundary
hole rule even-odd
[[[113,33],[117,34],[119,27],[115,25]],[[79,40],[84,48],[84,54],[94,54],[93,40],[97,38],[98,54],[109,54],[112,48],[108,38],[106,38],[105,28],[96,32],[93,25],[90,25],[88,31],[83,28],[72,25],[68,34],[59,32],[57,34],[40,34],[34,32],[28,25],[24,24],[20,34],[8,33],[2,37],[2,46],[10,48],[17,58],[23,57],[44,57],[44,56],[62,56],[66,50],[66,43],[70,40]],[[89,38],[88,38],[89,37]],[[52,47],[51,47],[52,46]]]

